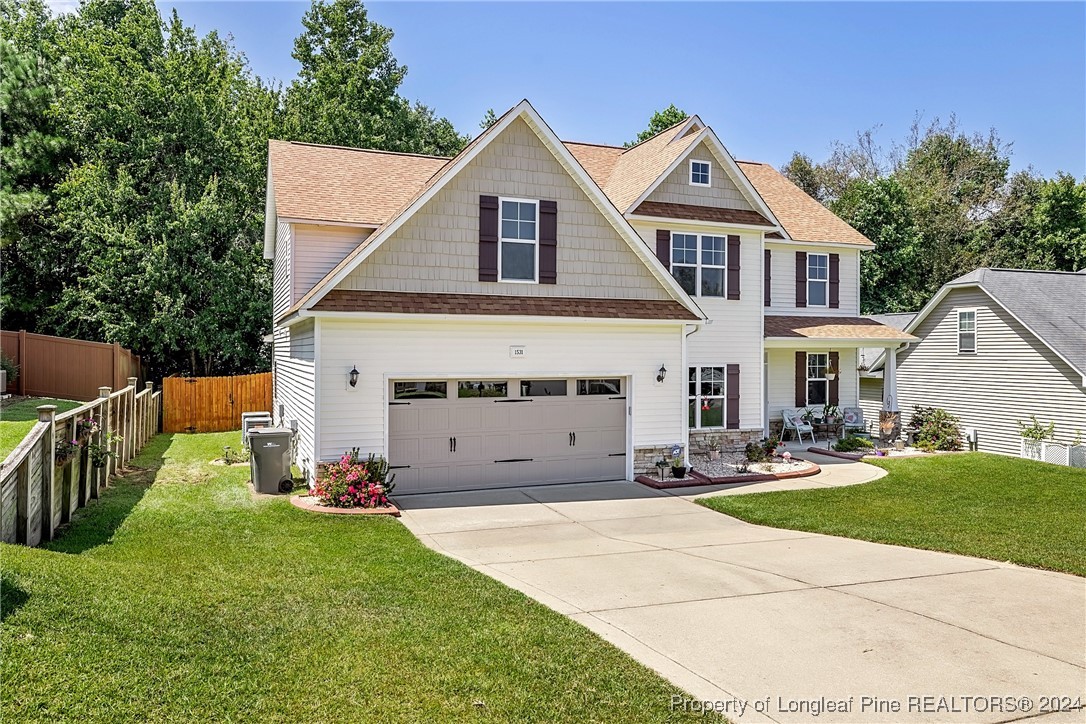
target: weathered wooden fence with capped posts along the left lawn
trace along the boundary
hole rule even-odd
[[[0,539],[28,546],[52,539],[154,436],[162,393],[150,382],[137,392],[137,382],[128,378],[116,392],[100,388],[98,398],[63,415],[54,405],[38,408],[38,422],[0,463]],[[96,446],[116,457],[96,467]]]

